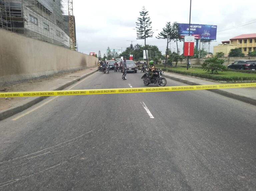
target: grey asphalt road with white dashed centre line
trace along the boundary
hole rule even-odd
[[[97,72],[71,89],[141,76]],[[0,121],[0,190],[255,191],[255,111],[206,90],[50,97]]]

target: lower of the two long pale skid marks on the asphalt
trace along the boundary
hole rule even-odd
[[[104,142],[102,142],[102,143],[96,144],[95,146],[93,146],[93,147],[91,147],[91,148],[89,148],[89,149],[87,149],[87,150],[85,150],[85,151],[83,151],[83,152],[81,152],[81,153],[79,153],[79,154],[76,154],[76,155],[70,157],[70,158],[69,158],[68,160],[66,160],[66,161],[60,162],[60,163],[58,163],[58,164],[56,164],[56,165],[53,165],[53,166],[51,166],[51,167],[49,167],[49,168],[46,168],[46,169],[44,169],[44,170],[41,170],[41,171],[39,171],[39,172],[37,172],[37,173],[30,174],[30,175],[27,175],[27,176],[22,176],[22,177],[20,177],[20,178],[15,178],[15,179],[13,179],[13,180],[9,180],[9,181],[6,181],[6,182],[2,182],[2,183],[0,183],[0,188],[1,188],[1,187],[4,187],[4,186],[7,186],[7,185],[9,185],[9,184],[13,184],[13,183],[16,183],[16,182],[18,182],[18,181],[24,180],[24,179],[26,179],[26,178],[30,178],[30,177],[32,177],[32,176],[34,176],[34,175],[37,175],[37,174],[42,173],[42,172],[45,172],[45,171],[47,171],[47,170],[50,170],[50,169],[55,168],[55,167],[57,167],[57,166],[60,166],[60,165],[62,165],[62,164],[65,164],[65,163],[69,162],[71,159],[73,159],[73,158],[75,158],[75,157],[77,157],[77,156],[79,156],[79,155],[81,155],[81,154],[84,154],[85,152],[87,152],[87,151],[89,151],[89,150],[92,150],[92,149],[94,149],[95,147],[100,146],[100,145],[102,145],[102,144],[104,144],[104,143],[106,143],[106,142],[108,142],[108,141],[110,141],[110,140],[116,138],[116,137],[119,136],[121,133],[123,133],[123,132],[121,131],[121,132],[119,132],[118,134],[116,134],[115,136],[111,137],[110,139],[107,139],[106,141],[104,141]]]

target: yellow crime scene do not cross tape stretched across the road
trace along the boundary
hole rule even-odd
[[[60,90],[60,91],[4,92],[4,93],[0,93],[0,97],[37,97],[37,96],[121,94],[121,93],[145,93],[145,92],[168,92],[168,91],[225,89],[225,88],[245,88],[245,87],[256,87],[256,83],[168,86],[168,87],[143,87],[143,88],[88,89],[88,90]]]

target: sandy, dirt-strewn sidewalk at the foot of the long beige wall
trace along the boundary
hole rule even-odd
[[[7,87],[0,87],[1,90],[6,88],[5,91],[0,92],[63,90],[96,72],[97,69],[98,67],[86,68],[66,74],[56,74],[47,79],[30,80]],[[45,98],[47,97],[0,98],[0,121],[35,105]]]

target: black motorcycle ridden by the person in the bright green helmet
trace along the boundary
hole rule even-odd
[[[143,79],[144,85],[149,85],[149,84],[156,84],[158,87],[164,87],[167,84],[167,81],[164,77],[161,75],[164,72],[162,70],[155,69],[153,72],[153,77],[149,76],[149,73],[146,72],[141,79]]]

